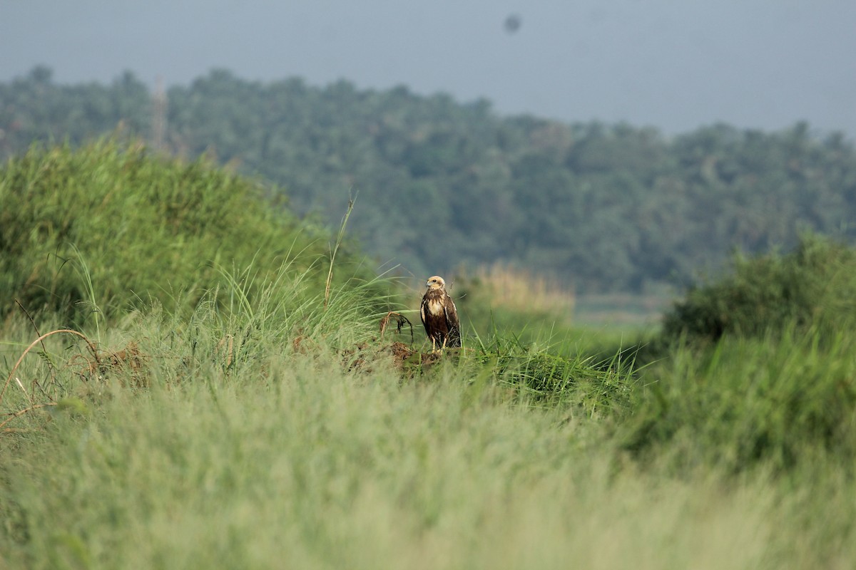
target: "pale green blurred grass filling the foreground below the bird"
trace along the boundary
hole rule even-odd
[[[481,380],[449,362],[402,383],[383,353],[348,371],[324,341],[262,339],[231,367],[218,334],[173,326],[107,338],[141,339],[147,388],[129,370],[60,372],[64,408],[3,434],[6,566],[805,568],[856,555],[853,480],[835,457],[809,448],[786,473],[772,460],[733,473],[733,457],[705,456],[731,449],[710,430],[740,436],[744,410],[699,412],[637,461],[621,426],[527,404],[490,365]],[[26,362],[25,386],[49,375]],[[710,363],[698,384],[740,370]],[[694,390],[694,405],[725,391]],[[26,399],[15,389],[3,405]]]

